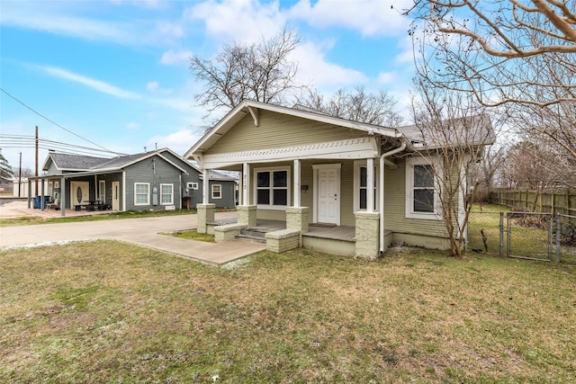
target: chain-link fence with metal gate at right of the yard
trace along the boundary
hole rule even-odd
[[[576,263],[576,217],[518,211],[472,211],[467,249],[539,261]]]

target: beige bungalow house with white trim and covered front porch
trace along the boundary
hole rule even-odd
[[[241,175],[238,222],[211,228],[214,206],[204,189],[198,230],[213,230],[219,241],[267,226],[275,228],[266,233],[271,250],[304,246],[367,258],[392,243],[446,249],[440,186],[421,177],[420,168],[435,161],[423,145],[415,127],[244,101],[184,155],[205,174]],[[464,208],[464,200],[455,203]]]

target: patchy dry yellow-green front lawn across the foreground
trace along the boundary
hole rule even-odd
[[[1,382],[576,380],[567,265],[298,250],[219,268],[99,241],[4,251],[0,281]]]

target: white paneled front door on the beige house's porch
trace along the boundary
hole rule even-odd
[[[316,165],[317,221],[340,225],[340,165]]]

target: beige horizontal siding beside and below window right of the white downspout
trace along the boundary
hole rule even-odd
[[[398,168],[384,171],[384,226],[395,233],[446,237],[442,220],[406,218],[406,161],[398,160]]]

